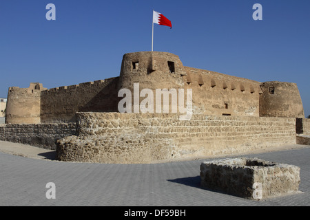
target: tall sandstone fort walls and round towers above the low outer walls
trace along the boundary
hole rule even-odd
[[[194,114],[304,118],[295,83],[260,83],[185,67],[178,56],[167,52],[134,52],[123,56],[116,78],[53,89],[38,83],[27,89],[10,87],[6,123],[75,122],[76,112],[118,112],[122,98],[118,91],[130,89],[134,94],[135,83],[139,94],[142,89],[153,94],[156,89],[184,89],[186,98],[187,89],[192,89]],[[144,99],[139,96],[139,103]],[[154,104],[153,112],[155,108]]]

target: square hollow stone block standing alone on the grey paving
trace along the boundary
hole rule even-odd
[[[200,164],[201,186],[246,199],[298,192],[300,168],[258,158],[237,157]]]

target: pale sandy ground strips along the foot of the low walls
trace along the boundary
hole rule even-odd
[[[298,148],[305,148],[309,147],[307,145],[299,145],[299,144],[293,144],[293,145],[287,145],[287,146],[278,146],[274,148],[263,148],[258,149],[256,151],[251,152],[242,152],[240,154],[234,154],[234,155],[216,155],[214,157],[231,157],[231,156],[238,156],[238,155],[246,155],[251,153],[268,153],[273,151],[287,151],[292,149],[298,149]],[[45,159],[45,160],[54,160],[56,156],[56,151],[48,150],[39,148],[36,146],[30,146],[27,144],[19,144],[19,143],[12,143],[12,142],[3,142],[0,141],[0,152],[3,153],[9,153],[11,155],[18,155],[21,157],[29,157],[33,159]],[[184,160],[194,160],[194,159],[207,159],[211,157],[186,157],[181,159],[174,159],[173,161],[184,161]],[[172,160],[160,160],[152,163],[165,163],[165,162],[172,162]]]

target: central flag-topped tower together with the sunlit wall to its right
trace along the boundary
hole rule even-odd
[[[154,94],[155,89],[192,89],[194,113],[259,116],[259,82],[185,67],[167,52],[125,54],[118,88],[133,91],[134,83]]]

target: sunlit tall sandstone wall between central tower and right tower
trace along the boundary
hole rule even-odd
[[[207,115],[259,116],[260,83],[217,72],[184,67],[184,87],[193,89],[196,112]]]

